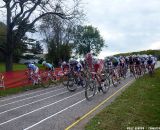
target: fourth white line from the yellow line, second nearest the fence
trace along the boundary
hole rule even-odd
[[[25,100],[28,100],[28,99],[31,99],[31,98],[35,98],[35,97],[42,96],[42,95],[46,95],[46,94],[48,94],[48,93],[56,92],[56,91],[58,91],[58,90],[60,90],[60,89],[52,90],[52,91],[49,91],[49,92],[46,92],[46,93],[42,93],[42,94],[39,94],[39,95],[36,95],[36,96],[32,96],[32,97],[29,97],[29,98],[24,98],[24,99],[22,99],[22,100],[18,100],[18,101],[15,101],[15,102],[3,104],[3,105],[0,105],[0,107],[4,107],[4,106],[10,105],[10,104],[14,104],[14,103],[17,103],[17,102],[25,101]]]

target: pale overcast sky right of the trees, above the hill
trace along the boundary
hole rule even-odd
[[[160,49],[160,0],[84,0],[86,24],[97,27],[106,55]]]

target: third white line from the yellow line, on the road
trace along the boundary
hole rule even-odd
[[[40,100],[37,100],[37,101],[31,102],[31,103],[28,103],[28,104],[25,104],[25,105],[19,106],[19,107],[15,107],[15,108],[12,108],[12,109],[8,109],[8,110],[6,110],[6,111],[1,112],[1,113],[0,113],[0,115],[1,115],[1,114],[4,114],[4,113],[6,113],[6,112],[9,112],[9,111],[13,111],[13,110],[16,110],[16,109],[19,109],[19,108],[25,107],[25,106],[29,106],[29,105],[31,105],[31,104],[34,104],[34,103],[37,103],[37,102],[40,102],[40,101],[43,101],[43,100],[46,100],[46,99],[49,99],[49,98],[52,98],[52,97],[59,96],[59,95],[61,95],[61,94],[67,93],[67,92],[68,92],[68,91],[64,91],[64,92],[59,93],[59,94],[56,94],[56,95],[54,95],[54,96],[49,96],[49,97],[47,97],[47,98],[43,98],[43,99],[40,99]]]

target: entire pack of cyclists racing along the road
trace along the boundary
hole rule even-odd
[[[78,85],[84,85],[82,72],[89,71],[96,74],[96,79],[99,84],[99,90],[101,90],[101,83],[104,82],[103,73],[108,72],[110,78],[114,82],[119,82],[123,77],[125,78],[129,70],[130,75],[142,75],[145,72],[154,71],[157,58],[152,55],[130,55],[130,56],[111,56],[106,60],[94,58],[92,53],[88,53],[84,60],[77,61],[70,59],[68,62],[63,61],[61,64],[61,73],[74,73],[79,78]],[[42,62],[45,71],[52,73],[54,67],[51,63],[46,61]],[[33,63],[27,64],[27,68],[31,74],[39,76],[39,68]],[[107,70],[107,71],[106,71]],[[115,81],[114,81],[115,80]]]

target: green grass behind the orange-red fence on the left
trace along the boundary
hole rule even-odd
[[[41,64],[36,64],[39,68],[43,68]],[[17,71],[17,70],[25,70],[26,69],[26,65],[24,64],[13,64],[13,71]],[[0,63],[0,72],[5,72],[5,64],[4,63]]]

